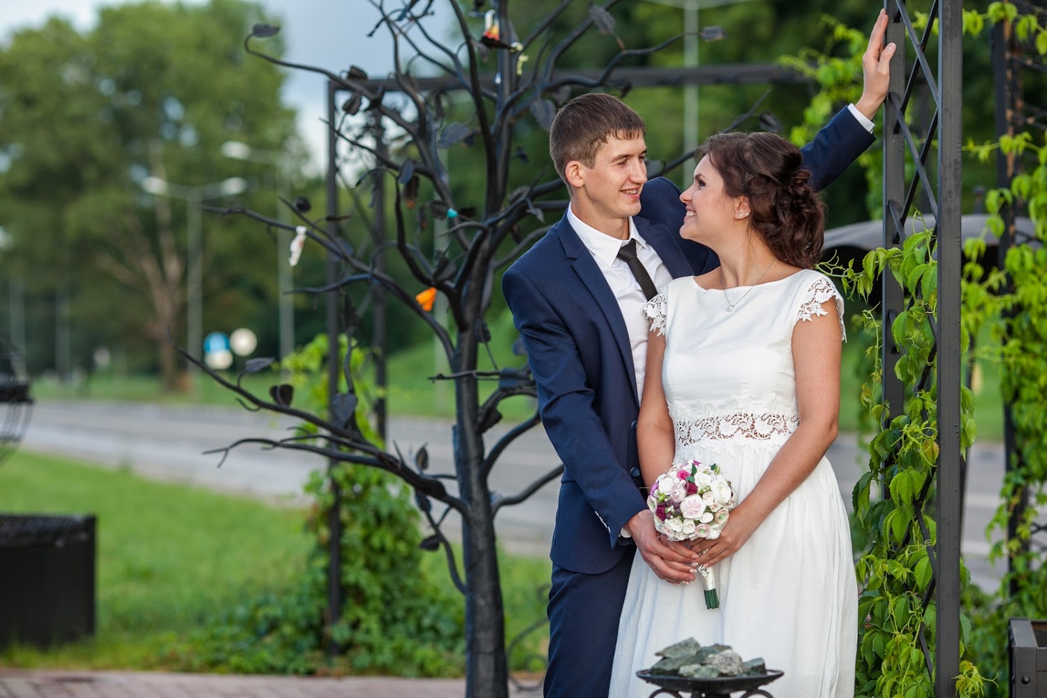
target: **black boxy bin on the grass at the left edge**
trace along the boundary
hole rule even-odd
[[[0,514],[0,647],[94,634],[95,518]]]

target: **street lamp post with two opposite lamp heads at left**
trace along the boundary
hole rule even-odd
[[[185,343],[190,356],[200,360],[203,347],[203,220],[200,217],[200,206],[205,199],[236,196],[247,188],[247,180],[243,177],[229,177],[221,182],[184,186],[173,184],[160,177],[146,177],[141,180],[141,188],[148,194],[158,197],[171,197],[185,201]],[[194,387],[193,378],[196,366],[190,366],[190,386]]]

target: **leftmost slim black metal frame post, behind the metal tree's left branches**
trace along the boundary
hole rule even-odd
[[[335,97],[338,89],[334,83],[328,82],[327,103],[328,103],[328,171],[327,171],[327,213],[328,233],[332,238],[338,238],[341,233],[338,229],[338,134],[335,132]],[[333,287],[338,280],[338,262],[334,253],[328,253],[327,283]],[[338,395],[338,370],[339,352],[338,338],[340,328],[338,327],[338,295],[341,293],[337,289],[328,291],[327,294],[327,333],[328,333],[328,413],[334,414],[334,399]],[[328,624],[333,626],[341,617],[341,491],[337,479],[332,475],[332,469],[337,467],[337,461],[328,463],[328,473],[331,483],[331,492],[334,501],[331,511],[328,512],[328,530],[330,539],[328,540]],[[338,644],[333,637],[329,638],[328,654],[334,655],[339,651]]]

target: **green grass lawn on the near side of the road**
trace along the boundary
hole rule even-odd
[[[16,452],[0,465],[0,513],[97,516],[97,631],[47,652],[0,649],[0,666],[169,669],[164,652],[188,631],[263,592],[289,588],[310,539],[303,513],[127,471]],[[442,555],[430,579],[450,581]],[[544,617],[550,563],[502,557],[509,636]],[[541,644],[544,628],[532,636]]]

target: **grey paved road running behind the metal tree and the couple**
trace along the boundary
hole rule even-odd
[[[254,445],[221,454],[205,451],[238,438],[280,438],[294,422],[252,413],[232,406],[172,407],[157,405],[44,401],[35,408],[23,448],[59,453],[108,466],[127,467],[151,477],[175,479],[274,501],[300,499],[308,474],[322,466],[319,458]],[[488,445],[505,433],[502,425],[489,433]],[[450,426],[440,420],[393,418],[389,441],[406,454],[426,445],[431,472],[452,472]],[[997,506],[1003,475],[1003,449],[979,444],[971,452],[962,550],[974,580],[994,585],[999,572],[985,560],[989,543],[985,526]],[[829,450],[845,501],[862,472],[862,457],[852,434],[843,434]],[[532,429],[506,452],[492,473],[492,488],[518,492],[559,463],[544,432]],[[505,508],[496,521],[499,540],[510,550],[545,555],[556,511],[555,482],[528,501]],[[456,520],[450,516],[448,520]],[[453,531],[451,532],[454,533]]]

